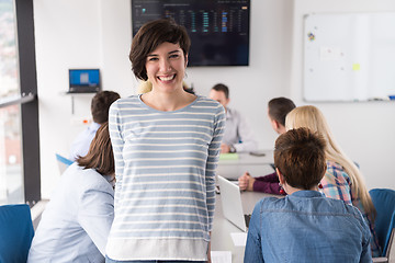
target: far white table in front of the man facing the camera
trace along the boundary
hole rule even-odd
[[[218,161],[217,174],[229,180],[237,180],[245,172],[249,172],[251,176],[262,176],[273,173],[274,170],[270,165],[273,163],[273,151],[263,150],[263,157],[251,156],[248,152],[240,152],[236,160],[221,160]],[[232,153],[230,153],[232,155]]]

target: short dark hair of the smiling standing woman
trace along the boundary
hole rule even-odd
[[[178,25],[172,19],[159,19],[147,22],[133,37],[129,59],[132,70],[138,79],[148,79],[145,67],[147,56],[165,42],[179,44],[187,59],[191,39],[185,27]]]

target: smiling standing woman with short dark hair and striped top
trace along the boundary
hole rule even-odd
[[[224,108],[188,93],[190,38],[172,20],[143,25],[129,59],[151,91],[110,108],[115,218],[106,262],[210,261]]]

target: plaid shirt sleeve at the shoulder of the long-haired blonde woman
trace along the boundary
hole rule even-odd
[[[350,179],[342,170],[328,165],[320,184],[321,193],[329,198],[342,199],[346,204],[352,205],[350,195]]]

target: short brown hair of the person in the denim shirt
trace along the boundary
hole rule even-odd
[[[309,190],[326,171],[326,141],[308,128],[291,129],[275,140],[274,165],[292,187]]]

